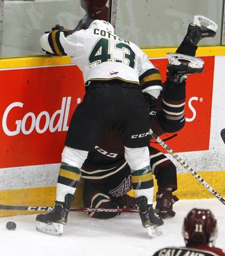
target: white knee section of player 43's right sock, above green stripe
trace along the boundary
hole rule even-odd
[[[149,166],[149,150],[148,147],[143,148],[125,148],[124,157],[132,172]]]

